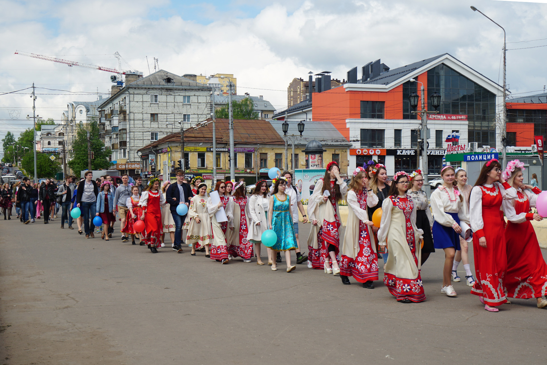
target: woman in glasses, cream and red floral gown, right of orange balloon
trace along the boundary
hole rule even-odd
[[[389,196],[382,203],[378,230],[380,247],[389,247],[383,282],[399,303],[419,303],[426,299],[420,276],[423,231],[416,227],[416,206],[406,194],[409,183],[404,171],[393,176]]]

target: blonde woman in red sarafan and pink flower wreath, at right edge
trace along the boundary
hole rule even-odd
[[[524,164],[519,160],[510,161],[503,172],[508,183],[516,189],[515,200],[503,201],[503,210],[508,223],[505,228],[507,242],[507,271],[505,289],[509,298],[536,298],[538,308],[545,308],[547,300],[547,264],[543,259],[536,232],[530,221],[541,221],[537,213],[529,213],[536,206],[538,188],[523,184]]]

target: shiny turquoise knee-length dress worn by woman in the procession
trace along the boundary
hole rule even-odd
[[[274,195],[274,213],[272,215],[272,226],[277,235],[277,242],[270,247],[276,251],[296,250],[296,237],[293,229],[293,215],[290,212],[290,197],[285,200],[277,199]]]

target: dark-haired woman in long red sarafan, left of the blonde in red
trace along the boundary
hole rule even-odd
[[[475,283],[471,293],[479,296],[484,309],[499,311],[496,306],[507,303],[504,276],[507,270],[505,231],[499,222],[503,200],[517,196],[502,177],[502,165],[492,159],[482,166],[479,178],[469,196],[469,221],[473,229]]]

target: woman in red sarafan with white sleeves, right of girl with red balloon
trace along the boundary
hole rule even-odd
[[[141,220],[144,220],[145,225],[144,244],[150,248],[152,253],[158,253],[157,248],[161,247],[160,235],[163,229],[160,205],[165,205],[165,196],[161,194],[159,187],[160,180],[151,179],[148,186],[142,191],[138,202],[143,210]]]

